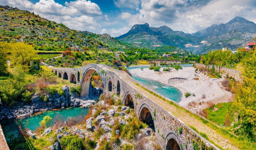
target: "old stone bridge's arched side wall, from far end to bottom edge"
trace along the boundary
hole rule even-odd
[[[88,64],[79,68],[50,68],[60,78],[81,85],[81,96],[85,98],[89,96],[90,81],[95,71],[97,71],[103,81],[105,91],[109,94],[120,95],[123,104],[134,108],[139,120],[155,129],[156,143],[160,144],[162,149],[193,150],[192,140],[203,142],[205,147],[218,149],[157,104],[150,95],[145,94],[145,89],[141,88],[144,86],[138,85],[139,82],[124,71],[113,69],[104,64]],[[180,128],[182,133],[180,133]]]

